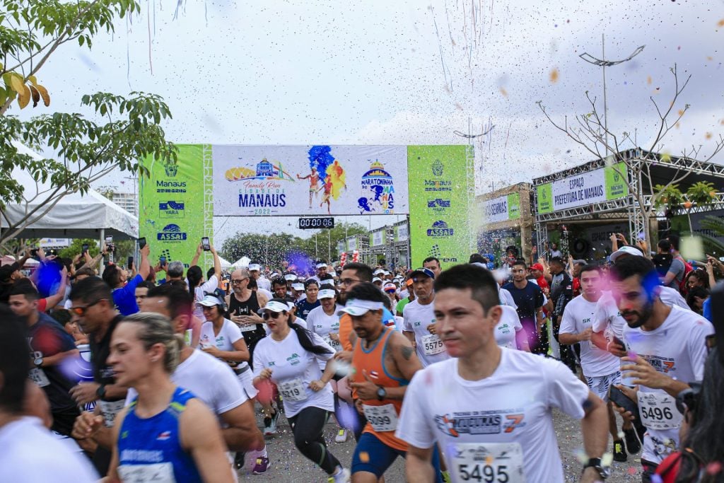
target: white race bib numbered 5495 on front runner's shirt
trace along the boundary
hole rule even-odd
[[[525,483],[523,448],[517,442],[455,443],[450,450],[452,481]]]

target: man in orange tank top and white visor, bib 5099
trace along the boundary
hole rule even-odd
[[[340,314],[352,319],[352,381],[355,405],[367,424],[352,458],[352,482],[376,483],[397,456],[405,458],[408,444],[395,436],[405,390],[422,369],[410,341],[382,324],[384,294],[370,282],[349,291]],[[442,482],[437,451],[432,464]]]

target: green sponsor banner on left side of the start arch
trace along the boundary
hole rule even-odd
[[[152,266],[160,256],[188,266],[201,238],[213,238],[211,146],[180,144],[177,148],[175,164],[143,161],[149,177],[139,180],[138,224],[140,236],[151,246]],[[211,263],[209,252],[204,252],[199,265]]]

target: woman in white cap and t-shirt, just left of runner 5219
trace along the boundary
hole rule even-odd
[[[239,326],[224,318],[227,311],[226,302],[218,295],[206,295],[201,301],[203,318],[201,325],[199,345],[201,350],[221,359],[234,370],[242,389],[249,399],[256,397],[251,376],[251,367],[248,364],[249,349],[246,347],[244,336]]]

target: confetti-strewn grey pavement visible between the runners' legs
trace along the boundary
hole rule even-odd
[[[563,469],[566,482],[578,482],[581,464],[576,459],[576,453],[583,448],[581,430],[578,421],[555,413],[555,431],[558,437],[560,454],[563,458]],[[259,419],[261,427],[261,419]],[[354,452],[354,438],[349,437],[345,443],[334,442],[337,426],[330,421],[325,429],[325,437],[329,450],[343,464],[349,466]],[[274,483],[326,483],[327,477],[323,471],[304,458],[294,447],[292,435],[287,420],[279,418],[279,432],[266,438],[266,448],[271,459],[271,468],[264,475],[248,475],[240,471],[240,481],[244,482],[274,482]],[[640,482],[639,455],[629,455],[628,462],[614,463],[614,474],[607,483]],[[398,459],[384,474],[387,483],[405,482],[404,461]],[[529,482],[546,483],[546,482]]]

